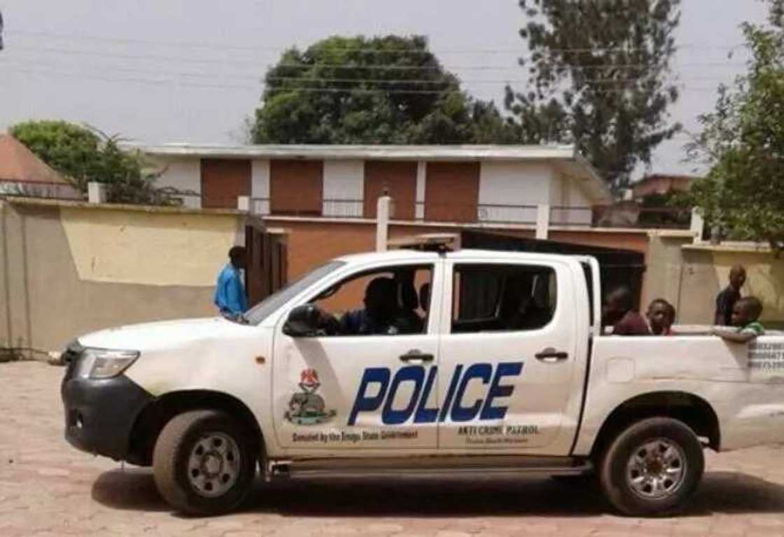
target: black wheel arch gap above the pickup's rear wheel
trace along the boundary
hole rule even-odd
[[[603,452],[612,439],[632,423],[655,416],[686,423],[698,437],[708,439],[711,449],[719,451],[719,419],[709,402],[685,391],[650,391],[635,395],[615,407],[593,441],[591,456]]]

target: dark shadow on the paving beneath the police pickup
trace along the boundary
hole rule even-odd
[[[122,510],[168,511],[151,470],[111,470],[93,499]],[[552,479],[258,482],[245,512],[318,517],[588,517],[610,512],[592,485]],[[685,516],[784,513],[784,486],[746,474],[708,472]]]

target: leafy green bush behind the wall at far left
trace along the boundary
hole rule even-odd
[[[82,193],[87,183],[103,182],[110,203],[168,205],[175,203],[154,183],[157,172],[140,153],[123,151],[118,135],[105,135],[67,121],[25,121],[9,128],[46,164],[59,171]]]

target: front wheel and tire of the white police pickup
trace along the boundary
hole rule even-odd
[[[155,442],[152,465],[161,496],[185,514],[227,513],[248,496],[257,455],[249,434],[226,413],[174,416]]]

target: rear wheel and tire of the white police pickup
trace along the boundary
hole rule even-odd
[[[663,516],[691,499],[705,458],[685,423],[655,417],[633,423],[610,443],[597,465],[604,496],[630,516]]]

